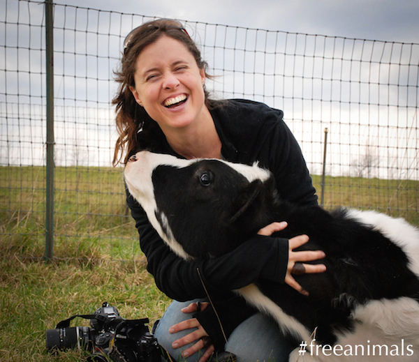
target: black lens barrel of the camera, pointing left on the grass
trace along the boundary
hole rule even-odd
[[[47,349],[89,348],[89,327],[68,327],[46,331]]]

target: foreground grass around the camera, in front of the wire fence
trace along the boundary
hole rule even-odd
[[[0,261],[0,361],[81,361],[86,352],[47,354],[45,330],[75,314],[89,314],[103,301],[127,319],[148,317],[153,323],[170,303],[145,270],[135,262],[53,262],[24,259],[4,250]],[[75,259],[77,260],[77,259]],[[152,325],[151,323],[151,325]],[[88,325],[75,319],[72,326]],[[151,327],[151,326],[150,326]]]

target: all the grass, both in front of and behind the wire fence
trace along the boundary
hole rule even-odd
[[[313,176],[321,193],[321,179]],[[170,303],[147,273],[128,216],[121,169],[57,167],[54,261],[45,250],[45,170],[0,167],[0,361],[80,361],[51,356],[45,330],[94,312],[103,301],[122,317],[159,319]],[[419,183],[326,177],[325,207],[378,209],[419,225]],[[75,319],[72,326],[87,325]]]

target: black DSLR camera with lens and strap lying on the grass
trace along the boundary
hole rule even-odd
[[[71,327],[75,317],[90,319],[90,328]],[[163,352],[148,322],[148,318],[124,319],[105,302],[93,315],[73,315],[47,330],[47,349],[87,349],[92,352],[87,362],[161,362]]]

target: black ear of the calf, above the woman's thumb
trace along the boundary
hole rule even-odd
[[[235,213],[228,219],[228,224],[240,234],[258,231],[265,218],[265,209],[265,185],[255,180],[235,199]]]

